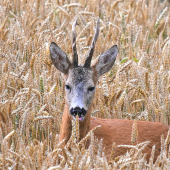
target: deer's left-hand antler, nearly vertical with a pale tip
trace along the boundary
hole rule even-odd
[[[74,21],[73,25],[72,25],[72,33],[73,33],[73,41],[72,41],[72,53],[73,53],[73,66],[77,67],[78,66],[78,54],[77,54],[77,49],[76,49],[76,31],[75,31],[75,27],[77,24],[77,19]]]

